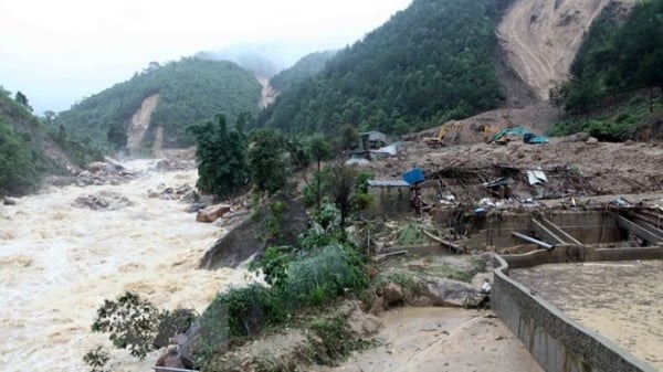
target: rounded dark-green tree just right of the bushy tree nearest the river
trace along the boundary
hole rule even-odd
[[[274,194],[285,187],[290,173],[285,139],[274,129],[257,129],[252,131],[250,137],[251,180],[256,191]]]

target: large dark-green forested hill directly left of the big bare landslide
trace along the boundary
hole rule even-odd
[[[495,108],[494,0],[414,0],[323,72],[282,94],[257,126],[402,134]]]

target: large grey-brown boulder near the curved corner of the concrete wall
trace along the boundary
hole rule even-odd
[[[469,283],[436,277],[425,278],[423,290],[434,306],[463,307],[478,295],[478,288]]]

